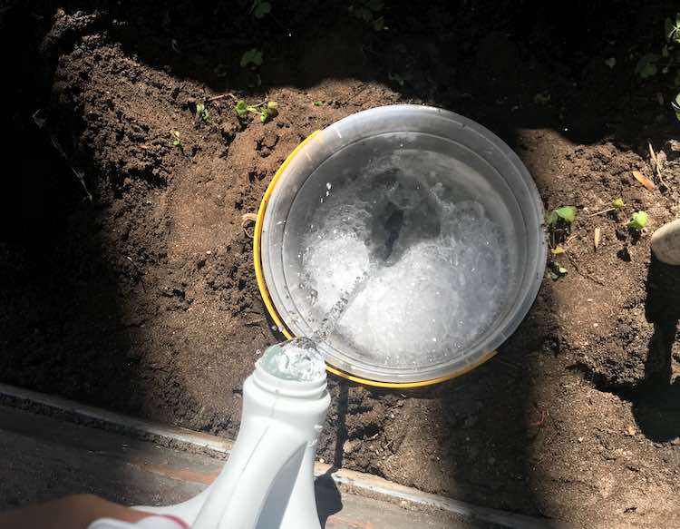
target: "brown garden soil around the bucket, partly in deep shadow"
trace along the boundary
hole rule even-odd
[[[672,80],[633,74],[671,3],[395,2],[384,32],[346,3],[276,4],[257,23],[245,0],[5,4],[3,382],[235,436],[241,384],[278,339],[242,216],[310,132],[434,104],[508,142],[547,208],[578,207],[556,258],[568,274],[465,377],[406,392],[332,377],[319,456],[576,526],[680,524],[678,271],[650,267],[648,247],[680,216],[680,125]],[[256,45],[259,87],[238,65]],[[196,103],[221,93],[281,112],[239,121],[227,96],[199,121]],[[624,212],[594,215],[616,197]],[[650,222],[635,237],[638,209]]]

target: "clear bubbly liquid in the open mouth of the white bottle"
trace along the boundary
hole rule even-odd
[[[309,338],[275,344],[267,348],[259,362],[269,375],[284,380],[310,382],[325,377],[324,357]]]

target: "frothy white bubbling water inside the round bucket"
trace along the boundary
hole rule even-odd
[[[500,226],[441,183],[392,175],[335,191],[303,249],[301,311],[320,321],[312,338],[335,332],[363,358],[395,367],[461,354],[508,289]]]

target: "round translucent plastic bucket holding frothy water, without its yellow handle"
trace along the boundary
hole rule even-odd
[[[289,164],[267,206],[262,266],[296,336],[340,301],[319,346],[330,364],[372,380],[446,377],[526,314],[545,261],[541,220],[528,172],[491,132],[438,109],[383,107],[335,123]]]

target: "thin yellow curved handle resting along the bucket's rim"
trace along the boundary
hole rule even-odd
[[[269,201],[269,198],[271,197],[272,192],[274,191],[274,188],[277,186],[278,180],[281,178],[281,175],[286,171],[286,168],[290,162],[293,161],[293,159],[296,157],[296,154],[302,150],[302,148],[306,145],[307,142],[309,142],[312,138],[316,136],[320,131],[315,131],[309,134],[305,140],[303,140],[297,147],[291,152],[286,161],[281,164],[281,167],[278,168],[276,174],[274,175],[274,178],[269,182],[269,185],[267,186],[267,191],[265,191],[265,196],[262,197],[262,201],[259,204],[259,209],[257,210],[257,220],[255,222],[255,233],[254,233],[254,239],[253,239],[253,260],[255,261],[255,277],[257,278],[257,288],[259,289],[259,293],[262,296],[262,300],[265,302],[265,307],[267,308],[267,312],[269,313],[269,316],[272,318],[274,323],[277,325],[281,333],[287,338],[287,339],[292,339],[295,338],[291,332],[287,329],[286,324],[283,322],[283,320],[278,316],[277,309],[274,307],[274,303],[272,303],[271,298],[269,297],[269,290],[267,290],[267,283],[265,282],[265,275],[262,271],[262,259],[261,259],[261,252],[260,252],[260,243],[262,239],[262,224],[264,223],[265,220],[265,212],[267,211],[267,202]],[[423,386],[432,386],[433,384],[439,384],[440,382],[444,382],[446,380],[451,380],[452,378],[455,377],[460,377],[461,375],[464,375],[465,373],[468,373],[475,367],[480,366],[484,362],[486,362],[489,358],[493,357],[496,354],[496,351],[487,351],[482,355],[480,360],[475,362],[474,364],[470,364],[469,366],[461,367],[461,369],[458,369],[457,371],[454,371],[453,373],[446,375],[445,377],[438,377],[438,378],[431,378],[429,380],[421,380],[419,382],[382,382],[380,380],[371,380],[369,378],[362,378],[362,377],[356,377],[355,375],[351,375],[350,373],[346,373],[345,371],[338,369],[337,367],[329,366],[328,363],[326,362],[325,364],[325,369],[329,373],[333,373],[334,375],[337,375],[338,377],[344,377],[347,380],[352,380],[352,382],[357,382],[359,384],[364,384],[365,386],[373,386],[373,387],[389,387],[389,388],[408,388],[408,387],[423,387]]]

